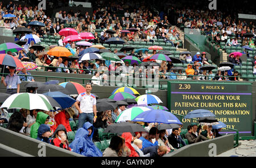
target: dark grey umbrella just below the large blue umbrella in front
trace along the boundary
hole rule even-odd
[[[147,132],[140,124],[122,122],[110,124],[104,133],[122,133],[122,132]]]

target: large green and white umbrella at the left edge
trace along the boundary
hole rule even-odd
[[[7,109],[27,109],[27,110],[53,110],[53,107],[46,98],[40,96],[41,94],[33,93],[15,93],[3,102],[0,108]]]

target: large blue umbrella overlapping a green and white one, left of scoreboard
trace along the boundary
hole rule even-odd
[[[143,113],[137,115],[133,122],[147,122],[147,123],[164,123],[164,124],[181,124],[177,117],[164,110],[150,110],[144,111]]]

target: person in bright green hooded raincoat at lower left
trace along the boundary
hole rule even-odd
[[[41,124],[46,124],[46,119],[49,119],[48,114],[38,112],[38,115],[36,115],[36,122],[32,124],[30,128],[30,136],[32,138],[36,139],[36,137],[38,137],[38,128]]]

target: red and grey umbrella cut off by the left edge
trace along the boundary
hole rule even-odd
[[[9,54],[0,54],[0,64],[16,68],[24,68],[23,64],[19,61],[18,58]]]

